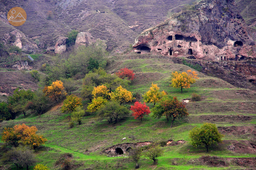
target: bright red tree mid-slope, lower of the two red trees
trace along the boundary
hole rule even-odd
[[[140,118],[140,121],[142,121],[144,115],[150,114],[149,106],[138,101],[134,103],[134,106],[131,106],[130,110],[133,111],[132,116],[134,116],[134,119]]]

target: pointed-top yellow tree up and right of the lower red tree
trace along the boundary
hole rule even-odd
[[[154,103],[154,105],[156,102],[159,102],[161,98],[166,95],[165,91],[159,92],[159,89],[160,88],[157,86],[157,84],[152,83],[149,91],[143,95],[144,102]]]

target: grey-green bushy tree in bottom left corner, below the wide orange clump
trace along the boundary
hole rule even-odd
[[[34,151],[29,147],[19,146],[12,148],[4,155],[4,162],[12,163],[17,170],[20,168],[29,169],[30,166],[36,163]]]

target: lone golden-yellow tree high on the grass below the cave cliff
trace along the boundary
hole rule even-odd
[[[177,71],[172,72],[172,79],[170,86],[174,88],[180,88],[181,93],[183,88],[190,88],[190,85],[196,82],[197,72],[188,70],[187,72],[178,73]]]

